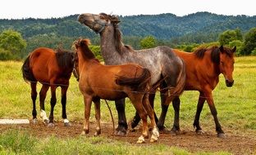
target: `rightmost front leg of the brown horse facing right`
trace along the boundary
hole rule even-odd
[[[215,126],[216,126],[216,131],[217,131],[217,136],[220,138],[225,137],[224,131],[222,131],[222,126],[221,124],[218,122],[217,119],[217,109],[215,108],[215,105],[213,103],[213,95],[212,95],[212,91],[208,91],[205,94],[206,100],[208,102],[208,106],[211,110],[211,113],[213,115],[214,118],[214,122],[215,122]]]

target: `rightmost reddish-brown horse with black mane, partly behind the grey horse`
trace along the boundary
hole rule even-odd
[[[232,73],[234,70],[234,52],[233,49],[223,46],[212,46],[209,48],[199,48],[192,53],[180,51],[174,49],[176,55],[179,55],[185,61],[186,67],[186,80],[185,91],[199,91],[199,101],[197,105],[197,111],[194,117],[194,128],[197,133],[202,133],[202,128],[199,126],[199,117],[203,109],[203,103],[207,100],[208,106],[213,114],[214,122],[216,125],[216,131],[218,137],[223,137],[224,132],[222,126],[217,119],[217,109],[213,103],[212,91],[219,82],[219,75],[222,73],[225,78],[226,86],[233,85],[234,80]],[[174,124],[171,131],[180,131],[179,125],[179,111],[180,111],[180,99],[177,96],[172,105],[175,110]],[[163,126],[164,119],[166,117],[168,106],[164,106],[162,114],[159,118],[158,125]]]

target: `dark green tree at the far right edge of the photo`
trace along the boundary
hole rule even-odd
[[[243,55],[250,55],[256,49],[256,27],[245,33],[244,46],[241,49]]]

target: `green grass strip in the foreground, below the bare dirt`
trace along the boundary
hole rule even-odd
[[[114,147],[113,147],[114,146]],[[184,154],[189,153],[181,148],[167,145],[133,145],[126,142],[109,140],[103,137],[66,138],[56,137],[37,139],[25,131],[6,131],[0,136],[0,154],[31,154],[31,155],[60,155],[60,154]],[[196,154],[230,154],[196,153]]]

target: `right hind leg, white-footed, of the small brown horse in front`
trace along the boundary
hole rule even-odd
[[[155,122],[153,108],[149,104],[149,95],[144,95],[144,98],[143,98],[142,102],[143,102],[143,105],[144,105],[144,109],[146,109],[146,111],[149,115],[149,118],[150,118],[150,121],[151,121],[151,127],[153,128],[152,136],[150,138],[150,142],[156,142],[158,140],[158,137],[159,137],[159,132],[158,132],[158,127],[157,127],[156,122]]]

